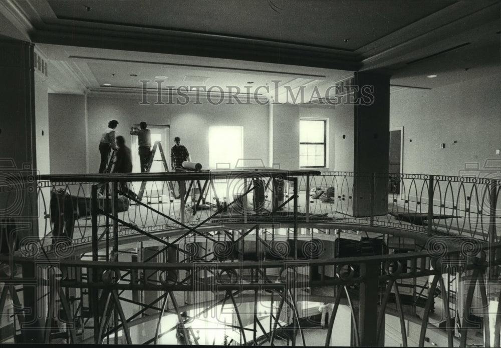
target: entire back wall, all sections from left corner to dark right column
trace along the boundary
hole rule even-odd
[[[268,105],[141,105],[141,96],[110,96],[91,93],[87,98],[87,132],[85,97],[80,95],[49,95],[51,169],[53,174],[90,173],[99,168],[97,144],[108,121],[119,122],[117,135],[124,135],[130,145],[130,125],[145,121],[170,126],[170,138],[181,137],[191,159],[207,168],[209,161],[208,127],[212,125],[243,127],[243,157],[261,158],[268,164]],[[273,162],[282,169],[299,169],[299,119],[328,119],[328,168],[353,170],[353,106],[330,108],[273,106]],[[75,140],[68,144],[67,126]],[[346,139],[342,139],[342,135]],[[82,151],[88,138],[87,153]],[[164,148],[170,148],[171,144]],[[68,148],[69,147],[69,148]],[[68,157],[67,153],[72,153]],[[88,160],[86,160],[86,155]],[[86,162],[88,161],[88,163]]]

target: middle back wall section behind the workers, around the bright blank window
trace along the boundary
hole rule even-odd
[[[191,160],[207,168],[209,163],[209,126],[242,126],[243,157],[262,158],[268,163],[268,106],[267,105],[212,105],[201,100],[201,105],[140,105],[141,96],[88,96],[89,171],[99,168],[98,144],[108,122],[119,122],[117,135],[123,135],[130,145],[130,126],[140,121],[170,126],[170,138],[181,138],[181,144],[190,152]],[[172,144],[164,145],[170,149]],[[134,150],[134,149],[133,149]],[[167,160],[168,160],[168,153]]]

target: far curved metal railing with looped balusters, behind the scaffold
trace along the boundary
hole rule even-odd
[[[358,176],[362,176],[358,174]],[[327,222],[392,227],[417,232],[441,232],[443,234],[477,238],[488,241],[499,240],[496,227],[501,219],[501,182],[495,179],[471,177],[451,177],[414,174],[365,175],[368,182],[388,185],[387,192],[379,197],[371,197],[365,193],[363,197],[371,204],[387,206],[382,214],[357,217],[353,215],[353,181],[352,172],[323,172],[321,175],[299,175],[298,178],[298,213],[299,221]],[[254,206],[254,190],[247,193],[245,201],[233,203],[217,216],[213,215],[219,207],[234,202],[234,196],[243,194],[245,178],[238,176],[230,179],[202,181],[187,180],[186,187],[191,194],[185,196],[184,204],[175,199],[169,185],[175,181],[148,181],[140,202],[131,203],[128,209],[119,208],[117,217],[145,231],[159,231],[179,227],[175,221],[183,220],[188,226],[196,226],[201,221],[207,222],[246,222],[259,219],[260,222],[286,221],[294,211],[292,184],[283,181],[285,204],[273,214],[274,186],[267,174],[260,173],[248,180],[260,180],[264,186],[264,200]],[[130,189],[140,191],[142,181],[130,181]],[[307,187],[308,185],[308,187]],[[193,188],[195,188],[193,190]],[[203,189],[203,190],[202,190]],[[58,201],[54,190],[64,190],[71,199]],[[200,194],[199,192],[202,191]],[[248,191],[248,190],[247,190]],[[329,191],[329,192],[328,192]],[[319,194],[320,192],[320,194]],[[200,195],[203,197],[200,198]],[[55,209],[73,214],[75,226],[73,242],[75,244],[90,242],[91,221],[91,183],[58,182],[40,180],[37,188],[41,231],[39,235],[50,237],[54,230]],[[105,209],[106,199],[99,195],[97,204]],[[120,199],[119,204],[122,204]],[[277,203],[275,203],[277,205]],[[381,203],[379,203],[381,204]],[[109,203],[111,205],[111,203]],[[183,205],[183,206],[182,206]],[[277,206],[276,206],[277,207]],[[275,207],[275,208],[276,208]],[[109,208],[108,208],[109,209]],[[72,212],[72,213],[70,213]],[[42,218],[43,217],[43,218]],[[175,221],[173,221],[174,219]],[[254,219],[254,220],[253,220]],[[105,216],[98,215],[97,223],[105,224]],[[70,221],[70,219],[69,219]],[[58,226],[59,227],[59,226]],[[490,231],[490,235],[489,235]],[[126,225],[120,227],[121,235],[135,233]]]

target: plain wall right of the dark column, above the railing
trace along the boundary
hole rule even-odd
[[[392,92],[390,127],[404,127],[403,172],[460,175],[465,163],[481,169],[488,158],[500,160],[495,155],[501,149],[500,86],[497,74],[432,90]]]

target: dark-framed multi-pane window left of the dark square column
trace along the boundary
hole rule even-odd
[[[299,121],[299,166],[324,168],[326,166],[325,120]]]

